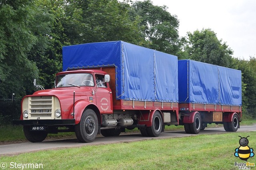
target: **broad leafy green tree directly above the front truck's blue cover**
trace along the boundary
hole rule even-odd
[[[118,0],[70,0],[65,6],[65,34],[71,44],[122,40],[140,42],[138,20],[131,20],[130,6]]]

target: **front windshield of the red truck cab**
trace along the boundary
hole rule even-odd
[[[64,74],[56,77],[56,87],[94,86],[93,77],[88,73]]]

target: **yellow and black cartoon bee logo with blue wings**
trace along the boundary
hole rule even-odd
[[[242,138],[241,136],[239,137],[240,137],[240,140],[239,140],[240,147],[235,149],[236,152],[234,153],[234,155],[236,157],[239,157],[241,160],[247,161],[248,158],[254,156],[253,149],[248,146],[249,140],[247,138],[249,136],[247,136],[246,138],[244,137]]]

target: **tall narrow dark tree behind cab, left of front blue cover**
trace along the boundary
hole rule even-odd
[[[49,89],[54,85],[55,74],[62,71],[62,46],[70,45],[63,26],[68,22],[66,3],[63,0],[37,0],[36,6],[42,11],[34,15],[41,25],[33,27],[32,31],[40,42],[30,51],[28,58],[39,69],[38,83]]]

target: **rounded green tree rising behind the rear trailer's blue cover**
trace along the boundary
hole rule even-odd
[[[190,59],[233,67],[232,49],[225,42],[222,43],[222,40],[218,40],[216,34],[210,29],[188,32],[186,51]]]

